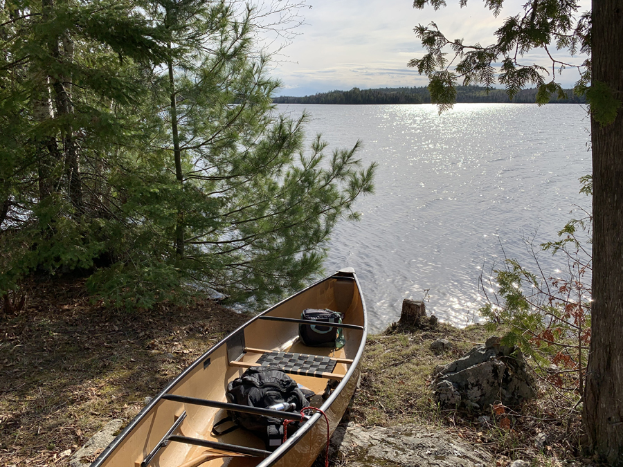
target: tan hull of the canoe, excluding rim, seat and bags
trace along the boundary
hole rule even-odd
[[[300,313],[307,308],[332,309],[344,313],[344,322],[365,326],[365,306],[357,282],[350,277],[329,277],[304,291],[293,295],[289,299],[273,306],[262,315],[278,316],[283,318],[300,318]],[[359,329],[343,329],[345,346],[342,349],[328,347],[307,347],[298,341],[298,324],[292,322],[277,322],[273,320],[255,319],[241,329],[232,333],[226,340],[210,349],[201,356],[185,374],[168,389],[169,394],[190,396],[213,401],[226,401],[225,391],[229,381],[239,377],[244,367],[230,365],[231,361],[255,363],[262,354],[258,351],[244,351],[245,347],[252,349],[266,349],[267,351],[291,351],[300,354],[331,356],[334,358],[354,359],[362,345],[365,331]],[[354,365],[356,365],[356,361]],[[334,374],[345,375],[352,363],[337,363]],[[358,374],[358,373],[357,373]],[[297,383],[305,385],[316,394],[322,394],[327,385],[327,378],[316,376],[302,376],[290,374]],[[353,378],[351,378],[353,379]],[[347,390],[340,393],[340,397],[323,410],[329,416],[331,431],[343,416],[344,410],[354,391],[354,381],[343,381]],[[183,411],[186,419],[183,420],[176,434],[186,437],[218,441],[222,443],[258,448],[264,450],[264,442],[252,432],[238,429],[234,432],[213,437],[210,433],[213,423],[219,421],[226,413],[224,410],[190,405],[177,401],[157,401],[150,410],[135,419],[133,428],[118,441],[105,459],[99,464],[101,467],[140,467],[141,461],[156,446],[174,421]],[[322,428],[322,430],[320,430]],[[326,423],[324,419],[316,423],[314,428],[305,432],[305,437],[296,443],[295,455],[282,456],[276,465],[311,464],[318,452],[323,449],[323,439],[326,439]],[[193,459],[201,455],[218,452],[200,446],[190,446],[184,443],[169,443],[161,449],[159,454],[150,462],[152,467],[194,467]],[[217,467],[246,467],[256,466],[263,459],[245,457],[232,453],[222,453],[226,457],[201,463],[201,466]],[[296,457],[296,458],[295,458]],[[306,460],[303,458],[309,458]],[[290,458],[290,460],[288,460]],[[101,459],[100,459],[101,460]],[[98,466],[98,467],[99,467]]]

